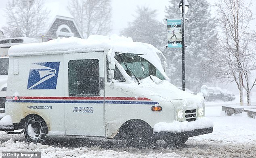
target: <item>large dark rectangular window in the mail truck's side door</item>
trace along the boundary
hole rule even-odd
[[[99,96],[99,60],[70,60],[69,96]]]

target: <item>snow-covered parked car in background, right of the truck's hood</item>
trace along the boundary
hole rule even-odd
[[[205,96],[206,101],[233,101],[235,94],[228,90],[222,90],[219,87],[208,87],[208,94]]]

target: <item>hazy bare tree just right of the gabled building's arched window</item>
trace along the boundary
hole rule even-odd
[[[111,0],[72,0],[68,8],[84,37],[111,31]]]

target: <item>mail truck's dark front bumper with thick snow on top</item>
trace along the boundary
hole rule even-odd
[[[174,121],[172,123],[157,123],[154,126],[154,134],[160,139],[166,137],[193,137],[213,132],[213,123],[206,117],[197,118],[195,121]]]

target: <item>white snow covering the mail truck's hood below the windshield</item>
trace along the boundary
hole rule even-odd
[[[202,107],[204,98],[200,94],[191,94],[189,92],[178,89],[167,80],[160,80],[155,76],[151,76],[153,81],[147,77],[141,80],[141,83],[133,82],[127,87],[122,83],[115,82],[115,88],[133,89],[133,97],[146,97],[154,100],[160,98],[159,101],[170,102],[171,100],[183,100],[184,107]],[[119,87],[120,86],[120,87]]]

